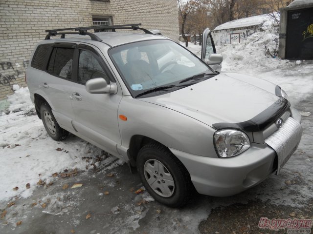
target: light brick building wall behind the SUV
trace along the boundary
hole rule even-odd
[[[0,100],[13,93],[13,84],[26,86],[28,60],[46,29],[89,26],[92,16],[179,38],[177,0],[0,0]]]

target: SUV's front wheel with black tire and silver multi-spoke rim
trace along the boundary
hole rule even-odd
[[[179,159],[166,147],[150,143],[137,156],[140,179],[156,201],[170,207],[182,207],[190,199],[190,175]]]

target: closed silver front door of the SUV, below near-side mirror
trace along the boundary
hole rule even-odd
[[[116,144],[121,144],[117,109],[122,99],[121,89],[117,94],[90,94],[85,84],[92,78],[104,78],[115,82],[101,52],[93,46],[79,44],[77,47],[77,82],[71,89],[73,125],[86,140],[101,146],[112,155]]]

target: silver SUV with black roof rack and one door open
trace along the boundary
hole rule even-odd
[[[70,132],[123,159],[173,207],[194,188],[228,196],[278,174],[302,135],[286,93],[262,79],[220,74],[223,58],[208,29],[199,59],[139,26],[47,31],[26,73],[47,133],[62,140]],[[112,32],[89,32],[103,29]]]

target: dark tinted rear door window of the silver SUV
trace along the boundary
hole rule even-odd
[[[74,49],[70,48],[53,48],[48,72],[58,77],[70,79],[72,75]]]

